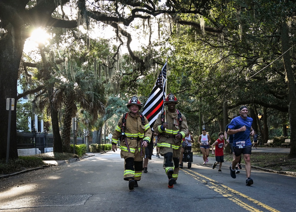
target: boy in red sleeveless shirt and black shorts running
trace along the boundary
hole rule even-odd
[[[215,169],[217,164],[219,164],[218,172],[222,173],[221,167],[222,167],[222,163],[224,162],[223,147],[226,147],[229,144],[229,141],[227,140],[227,144],[225,144],[224,139],[223,139],[224,138],[223,132],[219,132],[218,136],[219,136],[219,138],[212,144],[212,154],[214,154],[213,147],[215,145],[215,156],[216,156],[216,161],[217,161],[217,162],[213,163],[212,169]]]

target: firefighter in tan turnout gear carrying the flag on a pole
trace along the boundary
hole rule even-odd
[[[164,156],[163,168],[169,178],[169,188],[177,183],[182,139],[188,133],[185,116],[176,110],[177,103],[178,100],[174,94],[167,95],[164,101],[167,110],[159,114],[153,126],[154,131],[159,134],[157,146],[161,156]]]

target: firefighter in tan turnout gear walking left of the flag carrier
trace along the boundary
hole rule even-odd
[[[117,151],[120,142],[120,156],[124,158],[123,179],[129,181],[129,190],[138,187],[143,171],[145,147],[150,143],[152,136],[149,122],[139,110],[141,102],[133,96],[126,104],[129,109],[118,121],[112,136],[112,151]]]

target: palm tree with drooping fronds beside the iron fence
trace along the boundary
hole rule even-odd
[[[92,122],[85,121],[87,129],[90,129],[89,124],[95,123],[98,115],[103,115],[105,111],[106,100],[103,85],[94,77],[81,71],[76,64],[73,66],[73,72],[75,75],[68,75],[70,77],[64,78],[64,83],[59,88],[63,99],[61,135],[64,152],[70,151],[71,120],[76,116],[78,108],[87,111],[91,116]],[[87,150],[89,151],[88,146]]]

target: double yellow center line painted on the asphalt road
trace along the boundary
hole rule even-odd
[[[242,208],[248,210],[248,211],[256,211],[256,212],[260,212],[259,209],[252,207],[251,205],[248,205],[247,203],[242,202],[242,200],[240,200],[239,198],[235,197],[233,194],[237,194],[241,197],[244,197],[246,200],[249,200],[250,202],[259,205],[261,207],[263,207],[264,209],[268,210],[268,211],[272,211],[272,212],[280,212],[274,208],[271,208],[268,205],[263,204],[262,202],[259,202],[251,197],[248,197],[245,194],[242,194],[234,189],[229,188],[228,186],[223,185],[222,183],[219,183],[211,178],[208,178],[207,176],[201,175],[195,171],[192,170],[184,170],[183,171],[188,174],[191,175],[194,179],[196,179],[197,181],[200,181],[201,183],[209,183],[210,185],[206,185],[209,187],[209,189],[213,189],[215,192],[221,194],[223,197],[228,198],[229,200],[231,200],[232,202],[236,203],[237,205],[241,206]],[[190,172],[189,172],[190,171]],[[197,176],[196,176],[197,175]],[[198,177],[199,176],[199,177]],[[207,182],[206,180],[202,179],[205,178],[207,179],[209,182]]]

